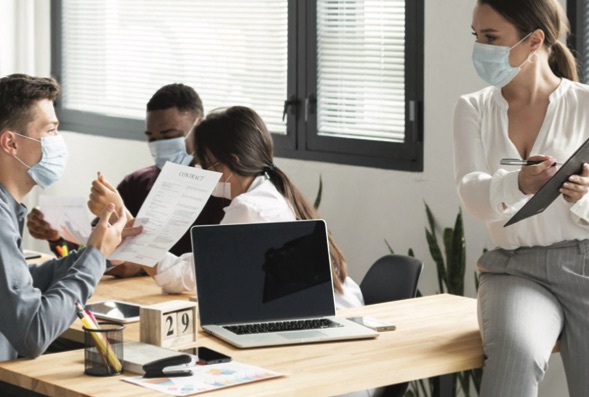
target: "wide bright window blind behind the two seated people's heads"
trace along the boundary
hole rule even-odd
[[[62,0],[62,106],[143,120],[165,84],[205,113],[254,108],[274,133],[287,98],[288,0]]]

